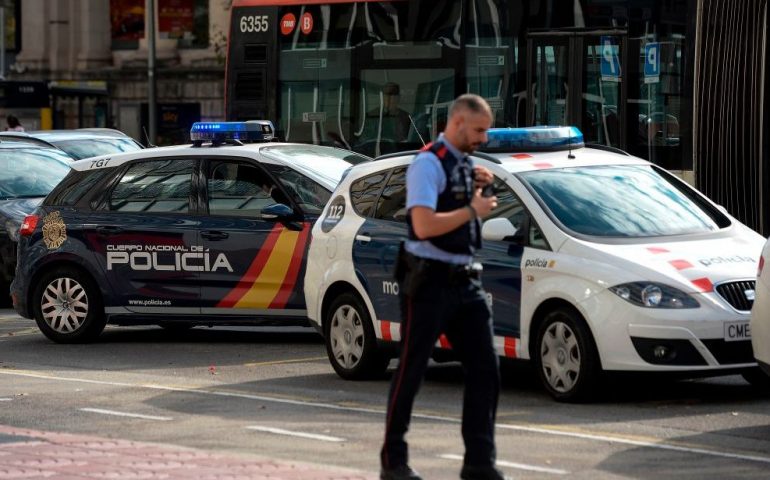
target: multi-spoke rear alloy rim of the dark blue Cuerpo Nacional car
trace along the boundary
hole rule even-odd
[[[72,333],[88,316],[88,295],[75,279],[56,278],[43,290],[40,310],[52,330]]]

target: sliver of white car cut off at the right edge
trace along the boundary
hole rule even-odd
[[[757,269],[757,284],[753,293],[754,306],[751,309],[751,344],[765,379],[770,378],[770,239],[762,249]],[[768,382],[770,383],[770,382]]]

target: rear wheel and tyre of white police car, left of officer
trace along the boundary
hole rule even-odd
[[[352,293],[338,296],[326,312],[324,321],[326,353],[337,375],[346,380],[382,376],[388,358],[377,348],[377,338],[369,312]]]

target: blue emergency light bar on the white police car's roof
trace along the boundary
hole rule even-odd
[[[487,138],[479,147],[482,152],[559,151],[585,146],[577,127],[490,128]]]

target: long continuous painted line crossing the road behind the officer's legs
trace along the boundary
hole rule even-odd
[[[74,378],[74,377],[56,377],[53,375],[44,375],[32,371],[16,370],[16,369],[0,369],[0,375],[9,375],[17,377],[38,378],[42,380],[58,380],[61,382],[75,382],[75,383],[90,383],[93,385],[111,385],[114,387],[134,387],[134,388],[146,388],[150,390],[160,390],[164,392],[184,392],[195,393],[198,395],[210,395],[215,397],[229,397],[229,398],[242,398],[247,400],[257,400],[260,402],[272,402],[283,405],[295,405],[301,407],[319,408],[324,410],[336,410],[342,412],[358,412],[369,413],[376,415],[384,415],[385,410],[381,408],[365,408],[365,407],[348,407],[319,402],[308,402],[304,400],[292,400],[285,398],[269,397],[266,395],[253,395],[248,393],[238,392],[225,392],[221,390],[201,390],[196,387],[173,387],[169,385],[158,384],[142,384],[142,383],[128,383],[128,382],[108,382],[104,380],[91,380],[87,378]],[[455,423],[459,424],[459,418],[444,417],[440,415],[425,415],[420,413],[412,414],[412,418],[419,418],[421,420],[434,420],[437,422]],[[592,432],[580,432],[580,431],[568,431],[558,427],[535,427],[530,425],[514,425],[514,424],[497,424],[498,429],[517,430],[523,432],[539,433],[543,435],[559,435],[572,438],[580,438],[583,440],[591,440],[597,442],[608,442],[620,445],[633,445],[637,447],[657,448],[661,450],[674,450],[684,453],[697,453],[701,455],[708,455],[712,457],[732,458],[738,460],[749,460],[752,462],[760,462],[770,464],[770,457],[760,455],[748,455],[741,453],[732,453],[727,451],[719,451],[705,448],[698,448],[694,446],[687,446],[684,444],[664,443],[661,439],[652,438],[651,440],[636,440],[621,435],[611,435],[606,433],[595,434]]]

